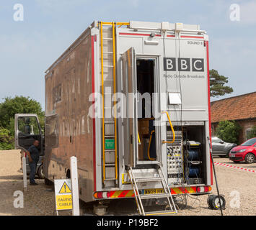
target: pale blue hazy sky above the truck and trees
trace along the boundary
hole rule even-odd
[[[15,4],[23,6],[23,21],[14,20]],[[200,24],[209,35],[210,68],[234,89],[213,100],[256,91],[255,12],[254,0],[1,0],[0,102],[30,96],[44,109],[45,70],[94,20]]]

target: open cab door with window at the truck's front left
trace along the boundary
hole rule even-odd
[[[15,147],[27,150],[37,139],[40,142],[40,155],[43,154],[43,136],[36,114],[15,114]]]

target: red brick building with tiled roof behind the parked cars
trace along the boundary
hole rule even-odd
[[[239,133],[239,144],[247,140],[252,127],[256,126],[256,91],[211,102],[213,134],[216,132],[219,121],[237,121],[242,127]]]

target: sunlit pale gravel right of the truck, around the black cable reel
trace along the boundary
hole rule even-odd
[[[214,158],[214,162],[234,165],[237,167],[248,168],[256,170],[256,163],[248,165],[245,163],[234,163],[228,158]],[[255,189],[256,189],[256,173],[246,172],[243,170],[233,169],[216,165],[216,175],[219,185],[219,192],[223,194],[226,199],[225,216],[249,216],[256,215]],[[235,191],[235,192],[234,192]],[[212,193],[217,195],[216,185],[214,183]],[[233,194],[232,194],[233,193]],[[237,204],[236,196],[239,194],[238,203],[240,207],[234,207]],[[208,195],[197,197],[199,201],[193,198],[187,198],[188,208],[178,211],[180,215],[196,215],[196,216],[217,216],[220,215],[219,210],[208,209],[207,198]]]

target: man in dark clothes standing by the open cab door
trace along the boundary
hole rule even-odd
[[[35,183],[35,171],[37,169],[37,162],[39,160],[39,151],[37,147],[39,141],[35,140],[34,143],[27,149],[27,156],[30,165],[30,185],[38,185]]]

